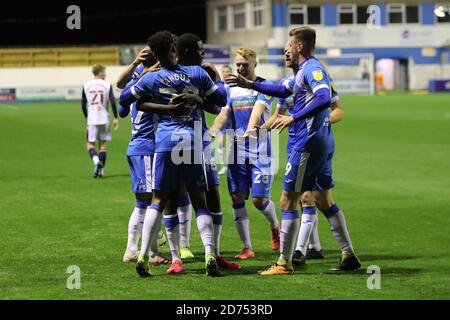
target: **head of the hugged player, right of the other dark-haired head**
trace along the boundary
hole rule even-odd
[[[185,66],[201,65],[203,56],[203,42],[193,33],[183,33],[177,41],[178,63]]]

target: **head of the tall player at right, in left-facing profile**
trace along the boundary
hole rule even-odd
[[[308,58],[316,47],[316,31],[308,26],[294,28],[289,31],[291,60],[298,61],[299,55]]]

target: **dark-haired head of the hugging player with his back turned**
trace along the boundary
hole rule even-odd
[[[173,34],[169,31],[159,31],[148,38],[148,46],[163,67],[173,67],[177,64],[177,49]]]

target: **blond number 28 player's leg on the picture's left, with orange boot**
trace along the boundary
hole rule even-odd
[[[236,259],[246,260],[253,258],[252,243],[250,240],[250,221],[245,208],[245,200],[249,196],[251,174],[247,174],[244,164],[228,165],[228,191],[233,206],[234,224],[242,241],[243,249],[235,256]]]

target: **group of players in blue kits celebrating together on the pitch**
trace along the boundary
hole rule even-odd
[[[292,274],[293,265],[323,258],[316,208],[328,220],[342,252],[336,270],[361,266],[344,214],[332,196],[331,124],[340,121],[343,113],[329,73],[313,56],[315,40],[310,27],[290,31],[284,52],[293,75],[279,83],[256,76],[255,51],[240,48],[234,54],[236,74],[227,74],[224,84],[216,68],[203,62],[200,37],[161,31],[148,38],[147,47],[120,75],[119,116],[131,113],[127,159],[136,197],[123,261],[136,262],[139,275],[149,276],[151,264],[169,264],[168,274],[184,272],[183,261],[194,257],[189,243],[192,208],[204,246],[206,274],[216,277],[220,269],[241,269],[220,253],[223,208],[212,138],[222,138],[224,130],[232,141],[227,182],[243,246],[234,257],[237,261],[255,257],[246,210],[251,195],[268,222],[271,248],[280,253],[260,275]],[[84,91],[95,90],[85,86]],[[91,110],[95,93],[89,94],[91,99],[84,101]],[[278,104],[272,114],[274,97]],[[211,128],[205,112],[215,115]],[[270,135],[286,127],[288,161],[278,205],[280,223],[270,192],[275,174]],[[99,176],[104,162],[94,159],[92,149],[90,145],[94,176]],[[158,250],[163,219],[170,259]]]

